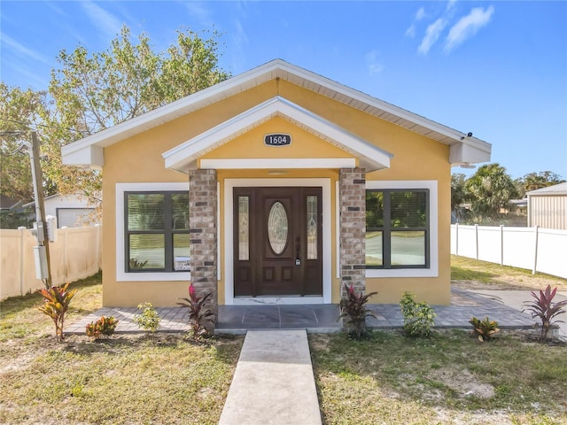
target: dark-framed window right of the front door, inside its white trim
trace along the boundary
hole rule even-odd
[[[430,190],[367,189],[366,267],[430,267]]]

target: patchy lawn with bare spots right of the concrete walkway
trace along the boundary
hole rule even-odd
[[[565,423],[567,345],[463,330],[408,338],[310,335],[323,420],[338,423]]]

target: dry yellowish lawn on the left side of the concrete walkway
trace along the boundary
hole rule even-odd
[[[100,276],[79,288],[69,323],[101,305]],[[183,334],[55,342],[36,294],[0,305],[0,423],[218,423],[242,337]]]

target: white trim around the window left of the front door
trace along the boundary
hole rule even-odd
[[[116,282],[190,281],[190,272],[128,273],[124,270],[124,193],[189,190],[189,182],[116,183]]]

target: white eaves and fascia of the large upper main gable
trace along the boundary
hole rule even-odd
[[[67,144],[61,149],[63,163],[102,167],[104,165],[103,149],[106,146],[143,133],[167,121],[175,120],[208,104],[214,104],[223,98],[236,95],[275,78],[290,81],[299,87],[312,90],[382,120],[408,128],[440,143],[445,143],[451,146],[449,161],[454,165],[490,160],[491,145],[489,143],[485,143],[476,137],[467,136],[453,128],[448,128],[375,97],[370,97],[299,66],[291,65],[281,59],[275,59],[171,104],[161,106],[112,128],[106,128],[95,135],[89,135],[74,143]]]

